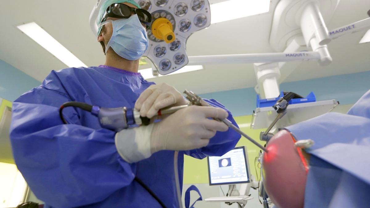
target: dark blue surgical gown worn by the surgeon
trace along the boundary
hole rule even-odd
[[[63,124],[58,114],[68,101],[133,108],[152,84],[139,73],[108,66],[66,68],[51,71],[42,85],[14,101],[10,129],[14,159],[37,198],[52,207],[160,207],[133,181],[136,176],[166,207],[178,207],[174,151],[159,151],[129,164],[116,150],[115,132],[101,128],[97,117],[69,107],[63,113],[70,124]],[[215,100],[207,101],[225,109]],[[228,119],[236,124],[230,112]],[[232,130],[217,132],[207,147],[179,152],[181,187],[184,154],[199,159],[221,156],[239,138]]]

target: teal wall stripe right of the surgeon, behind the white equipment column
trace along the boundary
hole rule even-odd
[[[302,96],[307,96],[313,91],[317,101],[335,99],[343,105],[356,103],[369,89],[370,71],[288,82],[280,85],[282,91],[293,91]],[[256,92],[252,87],[206,93],[200,96],[219,101],[234,116],[250,115],[256,109]]]

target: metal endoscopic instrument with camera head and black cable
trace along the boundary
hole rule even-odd
[[[168,107],[163,108],[158,111],[157,115],[166,115],[166,114],[172,114],[175,113],[178,110],[181,110],[183,108],[186,108],[190,105],[199,105],[199,106],[211,106],[206,101],[204,101],[201,97],[193,93],[192,91],[185,90],[184,94],[186,95],[186,99],[188,99],[190,102],[188,105],[180,105],[175,107]],[[107,128],[113,131],[121,131],[126,128],[131,127],[138,127],[140,125],[149,125],[150,119],[147,117],[141,117],[140,112],[136,110],[135,108],[127,108],[127,107],[119,107],[119,108],[104,108],[99,107],[95,105],[89,105],[86,103],[80,103],[80,102],[67,102],[61,105],[59,110],[59,115],[61,120],[64,124],[68,124],[67,121],[63,117],[63,109],[65,107],[78,107],[85,111],[91,112],[91,114],[95,115],[99,119],[99,123],[101,127]],[[236,127],[234,124],[232,124],[231,121],[228,119],[215,119],[217,121],[225,123],[228,127],[232,128],[236,132],[238,132],[243,137],[247,138],[249,141],[251,141],[253,144],[257,145],[261,150],[268,152],[265,147],[260,145],[258,142],[250,138],[248,135],[246,135],[244,132],[242,132],[238,127]]]

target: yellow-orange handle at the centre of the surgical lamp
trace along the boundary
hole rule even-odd
[[[171,22],[166,18],[158,18],[152,24],[152,33],[159,40],[164,40],[166,43],[172,43],[175,40],[175,33],[172,31]]]

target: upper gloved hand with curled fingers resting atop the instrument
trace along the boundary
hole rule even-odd
[[[148,87],[135,103],[142,117],[152,118],[159,110],[168,106],[186,105],[188,101],[174,87],[162,83]]]

